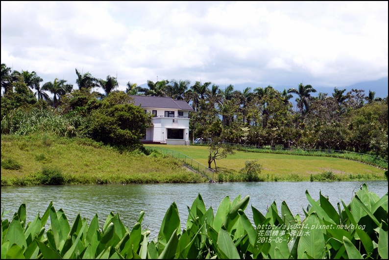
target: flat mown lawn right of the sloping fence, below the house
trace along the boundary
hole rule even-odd
[[[207,146],[197,145],[149,145],[181,152],[203,165],[208,165]],[[146,146],[145,145],[145,146]],[[354,181],[385,180],[384,170],[355,161],[315,156],[252,153],[236,151],[217,161],[223,181],[236,181],[246,160],[258,160],[262,165],[262,181]],[[212,164],[212,167],[214,165]],[[218,179],[216,179],[218,180]]]

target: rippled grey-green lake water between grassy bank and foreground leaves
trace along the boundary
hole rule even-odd
[[[286,201],[291,212],[304,218],[302,208],[306,209],[308,200],[305,190],[314,199],[319,191],[336,204],[342,199],[346,204],[353,194],[366,183],[369,191],[379,197],[388,192],[388,181],[366,182],[258,182],[258,183],[199,183],[199,184],[129,184],[129,185],[64,185],[64,186],[23,186],[1,187],[1,211],[11,210],[4,218],[12,217],[22,203],[26,204],[27,221],[32,221],[38,212],[46,211],[50,201],[56,211],[63,209],[73,223],[77,213],[88,219],[88,224],[98,214],[100,227],[110,212],[118,213],[122,222],[130,229],[135,225],[139,213],[145,211],[143,229],[151,231],[150,237],[158,235],[162,219],[170,204],[177,204],[181,227],[185,227],[188,210],[198,193],[205,206],[212,206],[216,214],[219,203],[229,196],[250,195],[249,204],[244,211],[252,221],[251,205],[265,214],[267,205],[275,200],[278,210],[282,201]]]

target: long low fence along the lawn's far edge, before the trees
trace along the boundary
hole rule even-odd
[[[193,144],[193,143],[191,143]],[[340,151],[340,150],[331,150],[331,149],[302,149],[302,148],[284,148],[282,146],[256,146],[256,145],[247,145],[247,144],[238,144],[225,142],[225,144],[231,145],[236,150],[247,151],[247,152],[259,152],[259,153],[276,153],[276,154],[291,154],[291,155],[303,155],[303,156],[323,156],[323,157],[335,157],[348,159],[353,161],[358,161],[361,163],[366,163],[369,165],[374,165],[381,167],[383,169],[388,169],[388,161],[376,157],[370,154],[357,153],[350,151]],[[198,145],[198,144],[195,144]],[[200,145],[208,145],[207,142],[203,142]]]

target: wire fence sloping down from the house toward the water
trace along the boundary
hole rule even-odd
[[[159,150],[161,153],[170,155],[174,158],[177,158],[181,161],[183,161],[184,165],[188,168],[196,171],[197,173],[201,174],[203,177],[207,178],[209,181],[214,180],[215,170],[200,164],[195,159],[174,150],[162,148],[162,147],[155,147],[155,146],[145,146],[146,150]]]

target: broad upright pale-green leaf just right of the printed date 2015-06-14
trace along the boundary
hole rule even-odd
[[[321,259],[325,250],[325,240],[323,232],[316,228],[320,225],[319,219],[315,213],[310,214],[307,219],[303,221],[303,234],[298,242],[298,258],[302,258],[304,252],[316,259]]]

